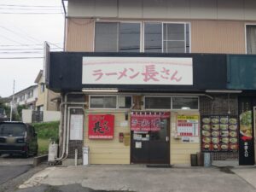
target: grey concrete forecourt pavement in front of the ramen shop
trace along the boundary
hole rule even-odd
[[[255,166],[52,166],[21,184],[17,192],[256,192],[256,186],[248,179],[256,180]]]

